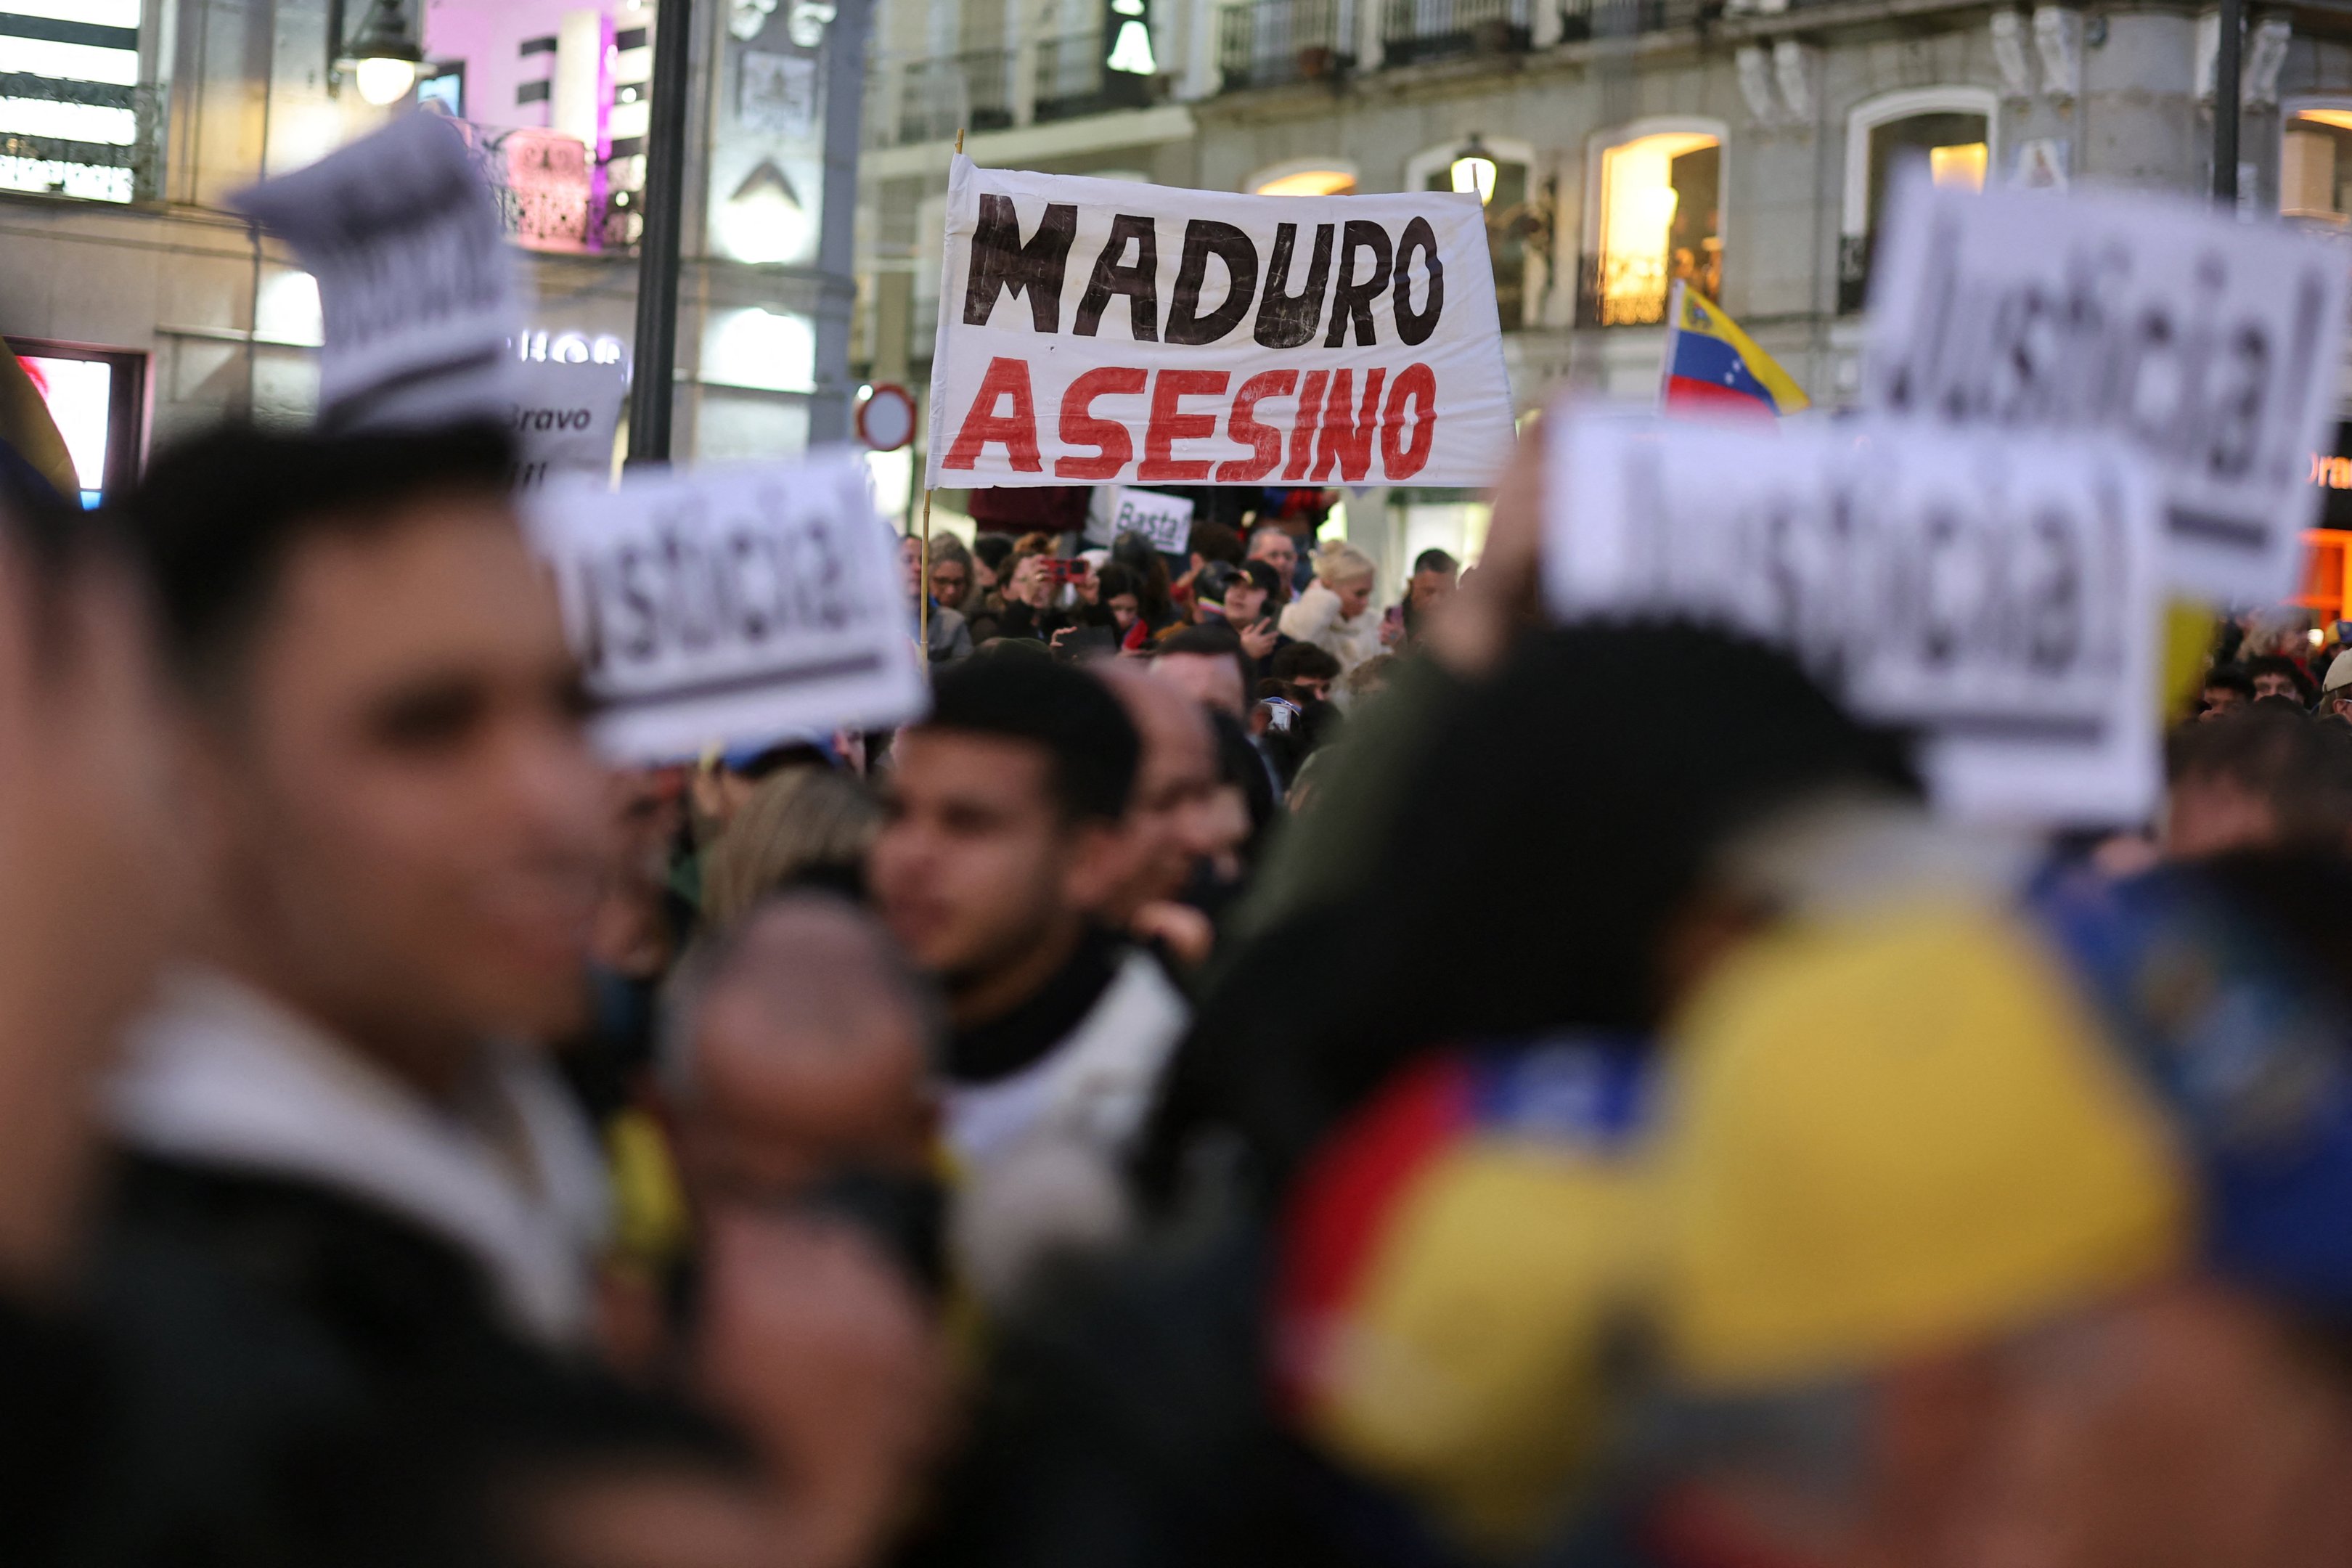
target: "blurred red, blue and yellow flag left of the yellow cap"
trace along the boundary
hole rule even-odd
[[[1599,1453],[1604,1347],[1649,1276],[1649,1051],[1425,1058],[1308,1161],[1277,1244],[1277,1399],[1343,1474],[1496,1561]]]

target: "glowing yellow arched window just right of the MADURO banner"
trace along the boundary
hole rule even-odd
[[[1677,282],[1722,299],[1722,127],[1635,127],[1599,143],[1588,186],[1581,324],[1653,327]]]

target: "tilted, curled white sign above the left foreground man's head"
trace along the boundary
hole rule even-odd
[[[233,205],[318,277],[320,425],[508,411],[522,294],[496,197],[456,127],[412,110]]]

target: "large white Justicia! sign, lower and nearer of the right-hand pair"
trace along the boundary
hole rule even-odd
[[[1545,599],[1790,649],[1917,729],[1938,806],[2129,823],[2157,799],[2161,508],[2110,440],[1571,414]]]

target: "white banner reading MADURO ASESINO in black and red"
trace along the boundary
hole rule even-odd
[[[1510,378],[1475,195],[948,176],[931,487],[1491,484]]]

